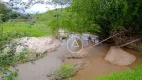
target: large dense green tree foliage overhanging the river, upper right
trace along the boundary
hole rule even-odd
[[[54,30],[97,33],[102,39],[128,30],[126,37],[142,37],[141,0],[72,0],[71,7],[57,14],[48,21]]]

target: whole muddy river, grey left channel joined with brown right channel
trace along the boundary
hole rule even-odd
[[[63,60],[63,57],[72,55],[72,53],[68,51],[66,44],[66,40],[62,41],[59,48],[53,52],[48,53],[48,55],[44,58],[36,60],[34,64],[31,62],[19,64],[17,66],[17,69],[19,69],[19,80],[50,80],[47,75],[52,73],[60,65],[66,63],[84,63],[82,69],[72,78],[72,80],[92,80],[95,77],[107,75],[113,72],[134,69],[137,64],[142,62],[142,58],[139,57],[138,52],[130,49],[124,49],[125,51],[135,55],[137,60],[129,66],[118,66],[110,64],[104,60],[104,57],[110,48],[110,46],[105,44],[86,49],[88,55],[84,58]]]

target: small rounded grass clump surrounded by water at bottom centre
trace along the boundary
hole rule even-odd
[[[63,80],[74,76],[77,73],[77,69],[71,64],[64,64],[55,71],[55,79]],[[70,79],[69,79],[70,80]]]

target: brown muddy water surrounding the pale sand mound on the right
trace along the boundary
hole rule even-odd
[[[92,80],[93,78],[108,75],[113,72],[121,72],[127,69],[134,69],[137,64],[142,62],[142,58],[140,58],[139,53],[134,50],[124,49],[127,52],[135,55],[137,60],[129,65],[129,66],[118,66],[110,64],[109,62],[104,60],[105,55],[107,54],[110,46],[102,45],[94,47],[94,51],[92,50],[86,58],[80,60],[66,60],[65,63],[76,63],[77,61],[84,61],[85,65],[83,69],[80,70],[72,80]],[[95,50],[96,49],[96,50]]]

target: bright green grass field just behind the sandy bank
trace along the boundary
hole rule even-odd
[[[51,35],[49,27],[43,23],[36,23],[34,25],[25,22],[6,22],[2,24],[5,32],[19,32],[25,34],[26,37],[41,37]]]

